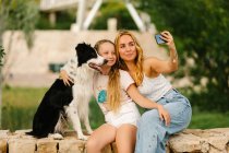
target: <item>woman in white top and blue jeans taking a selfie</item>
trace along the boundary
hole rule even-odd
[[[169,48],[169,60],[143,58],[143,49],[128,31],[120,32],[114,40],[119,67],[130,73],[141,94],[157,102],[169,111],[170,125],[159,119],[157,109],[143,114],[137,123],[135,153],[164,153],[168,137],[186,128],[192,109],[186,97],[172,87],[162,73],[178,69],[178,55],[169,32],[162,32],[161,39]]]

